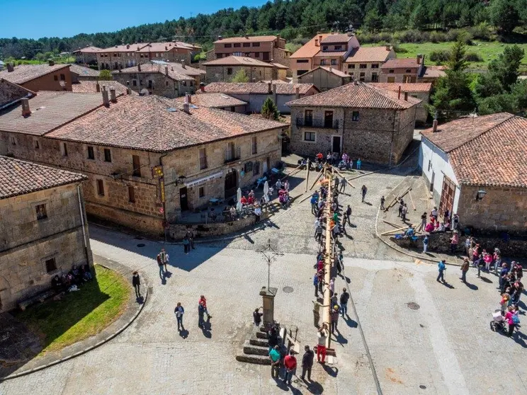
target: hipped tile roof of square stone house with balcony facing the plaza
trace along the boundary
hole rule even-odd
[[[357,82],[346,84],[312,96],[304,96],[285,105],[310,107],[383,108],[405,110],[421,101],[412,96],[408,101],[397,99],[397,93]]]

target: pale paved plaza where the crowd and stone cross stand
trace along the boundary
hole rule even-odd
[[[288,328],[297,326],[301,349],[316,343],[312,275],[317,243],[309,200],[300,202],[300,197],[261,228],[235,239],[199,243],[189,255],[181,245],[166,246],[171,273],[166,280],[155,261],[162,244],[91,227],[95,261],[104,257],[147,277],[152,292],[145,308],[110,342],[2,382],[0,394],[376,394],[375,377],[383,394],[527,393],[527,336],[506,338],[489,329],[499,303],[496,277],[478,279],[471,269],[467,286],[458,279],[459,268],[449,266],[449,285],[442,285],[436,282],[436,265],[415,263],[376,238],[380,195],[405,176],[399,171],[357,178],[351,181],[357,188],[348,186],[349,195],[341,196],[341,205],[353,209],[353,227],[341,238],[349,280],[339,278],[336,290],[349,287],[358,316],[348,304],[349,317],[339,320],[333,337],[336,363],[324,368],[315,362],[312,384],[293,377],[292,386],[285,387],[271,379],[270,367],[234,359],[249,336],[251,312],[261,306],[267,265],[257,250],[268,239],[284,253],[271,266],[271,286],[278,287],[276,319]],[[363,184],[369,204],[361,203]],[[296,189],[303,192],[304,185]],[[284,287],[293,292],[283,292]],[[212,314],[205,330],[198,328],[200,294]],[[188,333],[177,331],[176,302],[185,308]]]

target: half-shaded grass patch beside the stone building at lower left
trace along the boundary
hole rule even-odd
[[[130,285],[113,270],[96,265],[96,280],[60,301],[48,301],[21,311],[16,318],[42,338],[40,355],[94,336],[123,313]]]

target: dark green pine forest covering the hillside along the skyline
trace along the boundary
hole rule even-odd
[[[38,40],[0,38],[0,59],[37,59],[47,52],[57,54],[86,45],[109,47],[164,40],[197,42],[208,49],[218,35],[280,33],[294,40],[310,38],[320,30],[345,31],[351,25],[362,33],[493,26],[507,38],[514,35],[515,28],[523,33],[526,23],[527,0],[274,0],[261,7],[225,8],[112,33]]]

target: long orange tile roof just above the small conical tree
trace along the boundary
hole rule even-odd
[[[273,84],[275,82],[273,81]],[[310,89],[318,89],[313,84],[276,84],[276,93],[278,95],[294,95],[296,88],[299,89],[300,95],[305,95]],[[212,82],[205,86],[207,92],[221,93],[252,93],[267,95],[269,85],[265,82]]]

